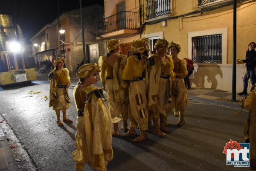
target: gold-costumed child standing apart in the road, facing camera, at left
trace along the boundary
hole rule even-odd
[[[72,120],[67,118],[66,114],[66,110],[70,108],[70,96],[68,94],[70,76],[67,68],[63,68],[64,64],[64,58],[57,58],[54,62],[54,70],[48,75],[50,80],[49,107],[52,107],[56,112],[58,126],[63,126],[60,119],[61,110],[63,122],[72,122]]]

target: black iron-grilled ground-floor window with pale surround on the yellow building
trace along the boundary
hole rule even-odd
[[[222,34],[192,37],[192,60],[194,63],[221,64]]]

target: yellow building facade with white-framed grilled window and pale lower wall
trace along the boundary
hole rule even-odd
[[[256,2],[237,3],[237,58],[244,59],[248,43],[256,41]],[[194,61],[192,85],[232,90],[233,0],[141,0],[141,37],[180,43],[179,58]],[[243,90],[245,67],[237,64],[237,91]]]

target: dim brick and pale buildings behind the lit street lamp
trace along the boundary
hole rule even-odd
[[[96,62],[100,55],[105,53],[104,42],[96,40],[96,21],[103,18],[104,8],[99,5],[92,5],[82,8],[85,49],[87,62]],[[58,31],[65,30],[61,35]],[[93,34],[94,33],[94,34]],[[38,56],[38,61],[51,60],[52,58],[64,57],[66,67],[70,72],[75,72],[76,67],[83,61],[83,46],[81,35],[81,19],[79,9],[64,12],[60,15],[60,26],[58,18],[47,24],[33,38],[30,39],[33,46],[33,53]],[[64,41],[64,47],[63,43]],[[64,50],[63,50],[64,49]]]

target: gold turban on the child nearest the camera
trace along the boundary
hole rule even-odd
[[[100,72],[100,71],[101,69],[99,65],[96,63],[84,64],[78,69],[78,72],[76,73],[76,75],[78,78],[87,78],[87,76],[91,75],[93,72]]]

